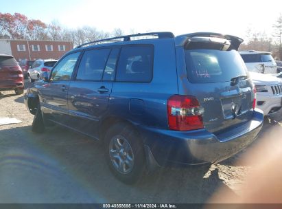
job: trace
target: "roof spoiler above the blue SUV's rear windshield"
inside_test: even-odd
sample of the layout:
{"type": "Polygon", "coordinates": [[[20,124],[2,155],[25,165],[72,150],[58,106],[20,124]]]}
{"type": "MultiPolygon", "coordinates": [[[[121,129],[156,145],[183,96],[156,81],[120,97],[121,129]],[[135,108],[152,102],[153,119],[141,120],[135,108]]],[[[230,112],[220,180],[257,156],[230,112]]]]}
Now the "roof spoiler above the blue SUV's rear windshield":
{"type": "MultiPolygon", "coordinates": [[[[217,38],[217,39],[225,39],[226,43],[229,41],[228,44],[230,44],[230,50],[238,50],[239,45],[243,43],[243,39],[237,37],[237,36],[231,36],[231,35],[224,35],[224,34],[218,34],[218,33],[212,33],[212,32],[197,32],[192,34],[185,34],[182,36],[176,37],[176,45],[183,45],[187,46],[191,42],[191,39],[193,37],[207,37],[207,38],[217,38]]],[[[212,40],[210,40],[212,42],[212,40]]],[[[216,41],[218,42],[218,41],[216,41]]],[[[225,43],[225,42],[224,42],[225,43]]]]}

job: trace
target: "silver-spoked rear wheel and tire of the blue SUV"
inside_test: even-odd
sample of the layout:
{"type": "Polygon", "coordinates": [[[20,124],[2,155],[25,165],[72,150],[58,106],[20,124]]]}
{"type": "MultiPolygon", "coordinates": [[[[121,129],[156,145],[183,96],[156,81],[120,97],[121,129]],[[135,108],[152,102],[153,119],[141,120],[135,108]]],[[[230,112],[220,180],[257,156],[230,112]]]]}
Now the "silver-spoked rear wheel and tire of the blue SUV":
{"type": "Polygon", "coordinates": [[[145,173],[143,143],[132,126],[114,124],[104,142],[105,157],[112,173],[125,184],[134,184],[145,173]]]}

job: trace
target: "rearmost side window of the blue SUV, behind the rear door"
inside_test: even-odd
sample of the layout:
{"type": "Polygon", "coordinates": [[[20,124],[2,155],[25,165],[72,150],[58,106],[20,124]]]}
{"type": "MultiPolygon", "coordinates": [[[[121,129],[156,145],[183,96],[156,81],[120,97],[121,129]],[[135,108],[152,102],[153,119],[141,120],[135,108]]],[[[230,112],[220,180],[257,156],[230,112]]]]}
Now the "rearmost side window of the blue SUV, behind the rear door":
{"type": "Polygon", "coordinates": [[[152,80],[154,47],[137,45],[121,48],[116,80],[148,83],[152,80]]]}

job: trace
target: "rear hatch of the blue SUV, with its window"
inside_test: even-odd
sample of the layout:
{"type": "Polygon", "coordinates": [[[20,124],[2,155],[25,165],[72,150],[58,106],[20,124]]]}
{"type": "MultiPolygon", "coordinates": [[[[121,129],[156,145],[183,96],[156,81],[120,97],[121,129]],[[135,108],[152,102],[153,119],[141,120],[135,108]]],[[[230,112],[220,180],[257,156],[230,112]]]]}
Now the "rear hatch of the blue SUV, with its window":
{"type": "Polygon", "coordinates": [[[212,133],[252,118],[253,84],[236,44],[193,37],[184,47],[189,94],[200,102],[204,127],[212,133]]]}

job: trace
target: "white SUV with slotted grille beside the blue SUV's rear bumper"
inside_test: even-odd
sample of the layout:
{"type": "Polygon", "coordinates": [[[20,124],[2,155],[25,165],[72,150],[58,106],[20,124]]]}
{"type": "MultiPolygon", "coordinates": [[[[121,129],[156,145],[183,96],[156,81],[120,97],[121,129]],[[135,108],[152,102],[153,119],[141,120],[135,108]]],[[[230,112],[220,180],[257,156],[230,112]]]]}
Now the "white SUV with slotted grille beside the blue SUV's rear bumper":
{"type": "Polygon", "coordinates": [[[282,104],[282,80],[271,74],[255,72],[250,72],[250,77],[257,91],[257,108],[261,109],[264,115],[279,111],[282,104]]]}

